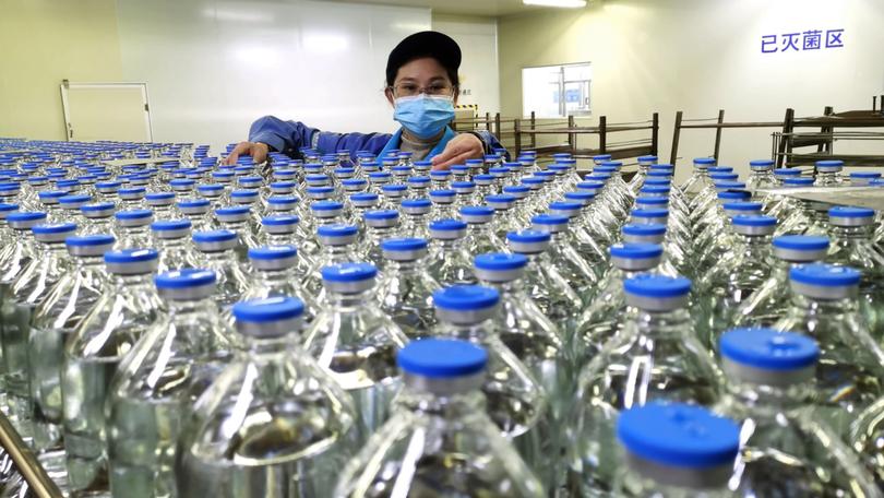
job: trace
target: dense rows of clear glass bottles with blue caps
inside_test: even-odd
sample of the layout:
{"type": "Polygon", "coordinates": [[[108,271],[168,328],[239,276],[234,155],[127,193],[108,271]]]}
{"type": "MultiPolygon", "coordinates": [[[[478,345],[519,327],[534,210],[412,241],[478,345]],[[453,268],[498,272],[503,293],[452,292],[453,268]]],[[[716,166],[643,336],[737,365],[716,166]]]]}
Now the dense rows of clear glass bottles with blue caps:
{"type": "Polygon", "coordinates": [[[184,150],[7,162],[2,407],[65,489],[880,493],[880,215],[755,190],[839,164],[184,150]]]}

